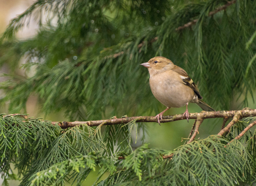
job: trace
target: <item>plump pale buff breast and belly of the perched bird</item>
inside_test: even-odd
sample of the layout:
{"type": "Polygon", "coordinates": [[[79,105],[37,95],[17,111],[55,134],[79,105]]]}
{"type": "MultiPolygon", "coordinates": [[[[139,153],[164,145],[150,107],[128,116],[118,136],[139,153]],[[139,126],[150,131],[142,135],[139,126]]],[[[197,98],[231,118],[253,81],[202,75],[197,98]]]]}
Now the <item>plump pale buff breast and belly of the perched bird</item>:
{"type": "Polygon", "coordinates": [[[185,106],[195,95],[179,75],[167,72],[150,76],[149,84],[155,98],[166,107],[185,106]]]}

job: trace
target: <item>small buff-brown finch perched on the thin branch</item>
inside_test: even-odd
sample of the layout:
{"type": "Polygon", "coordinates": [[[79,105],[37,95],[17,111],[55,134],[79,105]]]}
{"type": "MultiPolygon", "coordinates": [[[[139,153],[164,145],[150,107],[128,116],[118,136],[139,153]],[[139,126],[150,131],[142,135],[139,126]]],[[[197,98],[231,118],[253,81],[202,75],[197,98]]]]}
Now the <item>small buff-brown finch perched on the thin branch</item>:
{"type": "Polygon", "coordinates": [[[160,119],[164,112],[171,107],[182,107],[186,105],[186,111],[183,116],[189,120],[188,103],[196,103],[204,111],[215,111],[212,107],[202,101],[196,84],[188,76],[187,72],[181,67],[174,65],[166,57],[157,56],[151,58],[146,63],[140,65],[147,67],[150,78],[150,89],[155,98],[167,108],[156,115],[157,122],[160,125],[160,119]]]}

